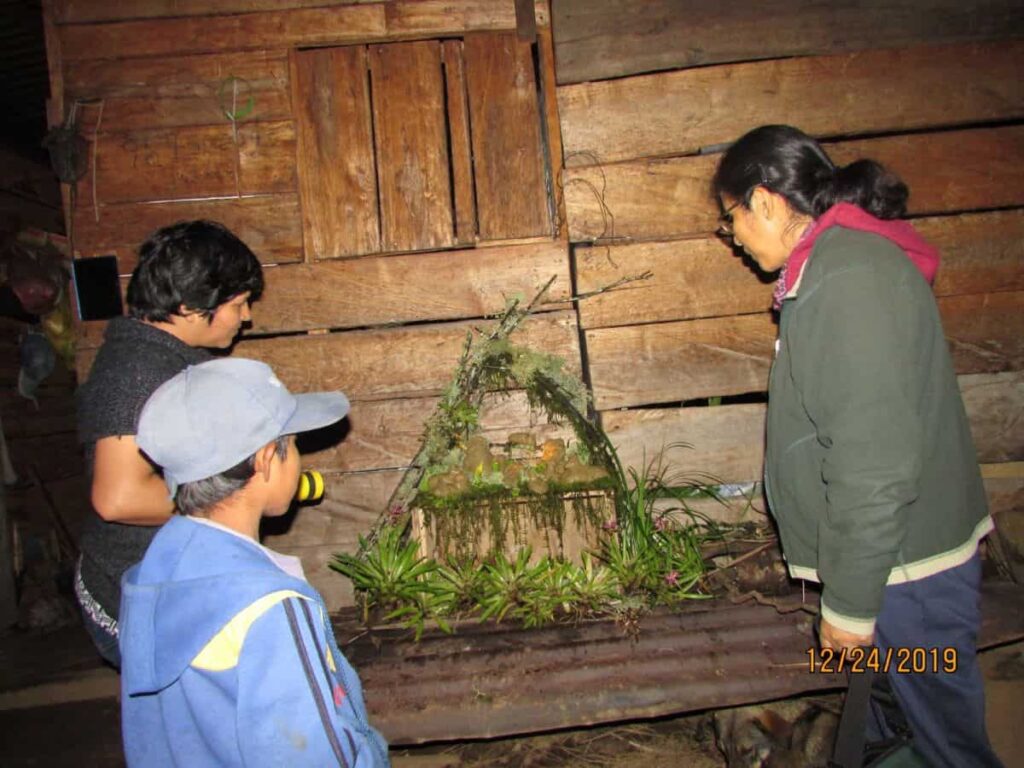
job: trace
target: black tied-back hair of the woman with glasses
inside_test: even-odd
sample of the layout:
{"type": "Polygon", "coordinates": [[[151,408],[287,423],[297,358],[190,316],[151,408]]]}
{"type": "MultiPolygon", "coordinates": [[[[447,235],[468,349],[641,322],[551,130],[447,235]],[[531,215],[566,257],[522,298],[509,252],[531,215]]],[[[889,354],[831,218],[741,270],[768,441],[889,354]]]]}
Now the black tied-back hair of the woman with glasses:
{"type": "Polygon", "coordinates": [[[781,195],[794,210],[817,218],[837,203],[852,203],[880,219],[906,213],[909,190],[873,160],[837,167],[813,138],[787,125],[764,125],[722,156],[714,194],[750,206],[756,186],[781,195]]]}

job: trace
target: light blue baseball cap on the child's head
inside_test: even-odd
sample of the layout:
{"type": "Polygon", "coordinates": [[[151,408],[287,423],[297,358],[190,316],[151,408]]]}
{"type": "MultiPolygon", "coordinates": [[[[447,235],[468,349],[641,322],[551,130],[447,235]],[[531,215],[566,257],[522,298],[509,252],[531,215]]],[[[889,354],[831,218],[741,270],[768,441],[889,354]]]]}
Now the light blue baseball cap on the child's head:
{"type": "Polygon", "coordinates": [[[292,394],[264,362],[224,357],[189,366],[146,400],[135,442],[178,485],[219,474],[271,440],[343,419],[341,392],[292,394]]]}

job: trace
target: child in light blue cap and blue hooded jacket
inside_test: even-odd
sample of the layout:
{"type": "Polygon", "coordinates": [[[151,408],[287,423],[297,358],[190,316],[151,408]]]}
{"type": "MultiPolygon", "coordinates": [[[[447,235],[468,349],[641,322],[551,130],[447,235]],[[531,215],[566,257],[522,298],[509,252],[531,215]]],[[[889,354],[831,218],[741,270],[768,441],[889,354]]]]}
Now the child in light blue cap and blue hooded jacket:
{"type": "Polygon", "coordinates": [[[294,435],[347,412],[237,357],[185,369],[142,409],[136,441],[179,514],[122,585],[129,766],[388,765],[323,599],[257,541],[295,495],[294,435]]]}

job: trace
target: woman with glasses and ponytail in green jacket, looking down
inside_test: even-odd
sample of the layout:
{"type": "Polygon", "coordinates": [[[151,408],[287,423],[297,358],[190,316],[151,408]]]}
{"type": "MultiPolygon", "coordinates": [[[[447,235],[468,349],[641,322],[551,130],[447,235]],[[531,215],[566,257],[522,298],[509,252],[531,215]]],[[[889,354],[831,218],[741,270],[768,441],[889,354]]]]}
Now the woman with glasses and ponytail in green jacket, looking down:
{"type": "Polygon", "coordinates": [[[992,521],[931,290],[938,253],[899,220],[907,187],[771,125],[732,144],[713,188],[721,233],[779,272],[765,488],[791,574],[821,584],[821,646],[878,647],[930,764],[997,766],[976,660],[992,521]]]}

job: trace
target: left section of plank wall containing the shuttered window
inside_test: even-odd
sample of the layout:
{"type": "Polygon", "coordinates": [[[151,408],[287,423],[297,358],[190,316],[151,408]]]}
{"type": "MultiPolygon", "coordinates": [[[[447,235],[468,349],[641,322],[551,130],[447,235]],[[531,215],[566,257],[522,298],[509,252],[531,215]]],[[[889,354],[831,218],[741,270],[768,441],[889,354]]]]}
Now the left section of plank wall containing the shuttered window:
{"type": "MultiPolygon", "coordinates": [[[[302,445],[327,475],[324,503],[266,530],[333,608],[352,596],[330,556],[383,510],[467,333],[554,278],[520,340],[582,372],[542,126],[555,110],[541,95],[555,77],[548,6],[536,3],[534,51],[515,5],[48,3],[54,98],[102,99],[79,108],[91,154],[69,211],[78,254],[114,253],[127,275],[159,226],[222,221],[266,276],[232,353],[352,400],[336,433],[302,445]]],[[[103,328],[79,325],[80,377],[103,328]]],[[[549,430],[521,393],[484,423],[496,437],[549,430]]]]}

